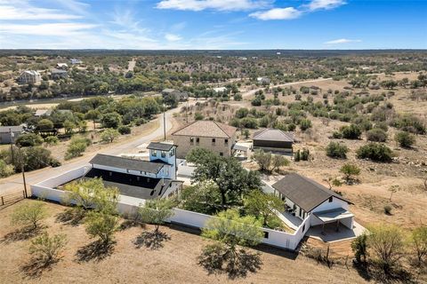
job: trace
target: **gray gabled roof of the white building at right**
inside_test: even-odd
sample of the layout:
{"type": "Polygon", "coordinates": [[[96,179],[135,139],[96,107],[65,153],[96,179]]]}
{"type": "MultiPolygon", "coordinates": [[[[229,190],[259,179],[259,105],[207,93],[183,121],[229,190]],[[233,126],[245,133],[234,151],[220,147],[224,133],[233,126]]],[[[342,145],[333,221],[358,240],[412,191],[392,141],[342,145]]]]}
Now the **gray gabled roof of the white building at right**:
{"type": "MultiPolygon", "coordinates": [[[[341,195],[334,193],[325,186],[318,184],[308,177],[302,177],[295,173],[283,177],[271,186],[306,212],[315,209],[331,196],[346,201],[341,195]]],[[[350,203],[350,201],[347,202],[350,203]]]]}

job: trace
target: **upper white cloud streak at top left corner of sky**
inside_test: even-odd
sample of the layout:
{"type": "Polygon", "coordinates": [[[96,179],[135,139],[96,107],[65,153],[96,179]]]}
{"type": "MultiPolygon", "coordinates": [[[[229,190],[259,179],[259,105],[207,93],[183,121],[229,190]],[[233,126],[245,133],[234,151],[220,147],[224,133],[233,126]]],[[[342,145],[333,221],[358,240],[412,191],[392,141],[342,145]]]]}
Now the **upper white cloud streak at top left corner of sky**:
{"type": "Polygon", "coordinates": [[[0,20],[72,20],[81,16],[62,13],[56,9],[0,5],[0,20]]]}

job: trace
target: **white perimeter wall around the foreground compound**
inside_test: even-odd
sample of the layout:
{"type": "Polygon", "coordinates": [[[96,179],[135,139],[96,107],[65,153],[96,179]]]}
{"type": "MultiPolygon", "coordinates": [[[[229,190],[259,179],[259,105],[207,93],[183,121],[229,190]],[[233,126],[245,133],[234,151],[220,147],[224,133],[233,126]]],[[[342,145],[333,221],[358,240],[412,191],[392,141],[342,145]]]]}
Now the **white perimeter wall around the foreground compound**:
{"type": "MultiPolygon", "coordinates": [[[[36,185],[31,185],[31,193],[33,196],[43,198],[49,201],[62,202],[66,197],[66,192],[58,189],[53,189],[58,185],[63,185],[71,180],[81,177],[86,168],[79,168],[76,170],[70,170],[58,177],[49,178],[36,185]]],[[[125,217],[132,216],[137,213],[138,207],[143,205],[145,200],[139,198],[133,198],[130,196],[120,195],[120,200],[117,203],[117,210],[120,214],[125,217]]],[[[71,201],[71,203],[73,203],[71,201]]],[[[169,218],[169,222],[178,223],[181,225],[189,225],[197,228],[204,228],[206,221],[212,216],[192,212],[183,209],[173,209],[173,217],[169,218]]],[[[310,228],[310,217],[306,217],[302,221],[302,225],[294,233],[285,233],[275,230],[262,228],[263,232],[268,233],[268,238],[263,238],[262,243],[269,244],[278,248],[286,248],[294,250],[307,230],[310,228]]]]}

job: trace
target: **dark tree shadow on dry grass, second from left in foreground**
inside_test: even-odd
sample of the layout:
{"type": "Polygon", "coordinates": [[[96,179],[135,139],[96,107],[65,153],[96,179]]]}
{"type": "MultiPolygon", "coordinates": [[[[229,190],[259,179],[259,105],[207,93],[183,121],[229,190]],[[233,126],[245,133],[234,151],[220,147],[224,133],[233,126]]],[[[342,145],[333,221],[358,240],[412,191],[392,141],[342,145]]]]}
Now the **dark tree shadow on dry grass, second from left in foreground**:
{"type": "Polygon", "coordinates": [[[109,243],[93,241],[85,247],[78,248],[76,253],[77,262],[101,261],[112,255],[115,245],[116,241],[110,241],[109,243]]]}

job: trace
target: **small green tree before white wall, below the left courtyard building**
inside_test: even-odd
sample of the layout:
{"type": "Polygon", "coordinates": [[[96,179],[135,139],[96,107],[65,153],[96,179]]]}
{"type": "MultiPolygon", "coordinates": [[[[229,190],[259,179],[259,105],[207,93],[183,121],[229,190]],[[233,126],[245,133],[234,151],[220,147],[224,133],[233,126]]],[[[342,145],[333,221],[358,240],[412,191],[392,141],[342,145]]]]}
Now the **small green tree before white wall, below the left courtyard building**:
{"type": "Polygon", "coordinates": [[[155,225],[155,233],[158,233],[159,225],[165,224],[165,220],[173,216],[173,201],[159,198],[145,201],[138,214],[141,222],[155,225]]]}

